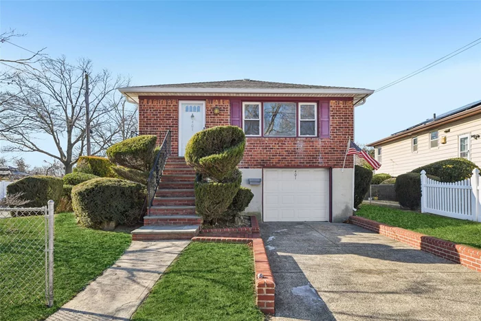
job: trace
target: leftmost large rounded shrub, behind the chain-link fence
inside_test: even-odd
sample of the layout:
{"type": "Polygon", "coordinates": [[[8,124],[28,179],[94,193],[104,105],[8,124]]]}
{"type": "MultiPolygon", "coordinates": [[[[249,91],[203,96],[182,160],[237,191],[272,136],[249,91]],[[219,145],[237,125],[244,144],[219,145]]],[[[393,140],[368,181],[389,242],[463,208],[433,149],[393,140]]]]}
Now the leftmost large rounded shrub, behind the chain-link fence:
{"type": "Polygon", "coordinates": [[[50,199],[55,202],[56,208],[60,197],[62,197],[62,192],[63,180],[52,176],[27,176],[7,186],[8,195],[23,193],[21,199],[29,201],[24,207],[30,208],[47,206],[50,199]]]}

